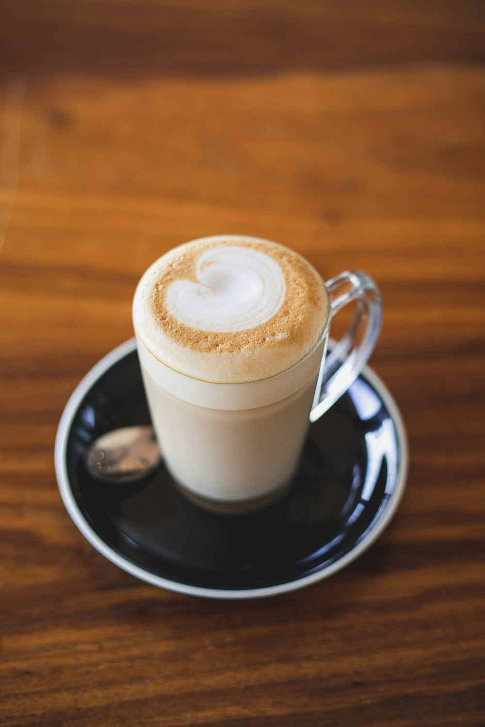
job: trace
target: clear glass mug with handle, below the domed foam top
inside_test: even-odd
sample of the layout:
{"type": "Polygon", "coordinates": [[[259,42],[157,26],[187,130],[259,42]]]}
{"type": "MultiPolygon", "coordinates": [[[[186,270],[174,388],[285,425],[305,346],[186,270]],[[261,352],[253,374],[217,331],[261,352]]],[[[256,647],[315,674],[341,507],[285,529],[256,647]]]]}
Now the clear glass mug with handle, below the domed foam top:
{"type": "Polygon", "coordinates": [[[379,289],[361,272],[342,273],[325,286],[330,314],[317,345],[291,369],[268,379],[239,384],[193,379],[162,364],[136,336],[164,462],[197,505],[231,514],[276,499],[292,481],[310,422],[364,368],[380,331],[379,289]],[[353,321],[326,356],[332,316],[353,301],[353,321]]]}

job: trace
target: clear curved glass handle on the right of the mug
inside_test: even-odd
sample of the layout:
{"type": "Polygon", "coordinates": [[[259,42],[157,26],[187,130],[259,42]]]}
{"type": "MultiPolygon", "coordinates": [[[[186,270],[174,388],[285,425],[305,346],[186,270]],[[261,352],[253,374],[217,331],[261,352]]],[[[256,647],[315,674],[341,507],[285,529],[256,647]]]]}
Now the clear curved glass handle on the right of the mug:
{"type": "Polygon", "coordinates": [[[365,273],[342,273],[327,281],[331,316],[344,305],[357,301],[356,313],[344,336],[324,355],[310,422],[316,422],[356,380],[372,353],[380,332],[382,299],[372,278],[365,273]]]}

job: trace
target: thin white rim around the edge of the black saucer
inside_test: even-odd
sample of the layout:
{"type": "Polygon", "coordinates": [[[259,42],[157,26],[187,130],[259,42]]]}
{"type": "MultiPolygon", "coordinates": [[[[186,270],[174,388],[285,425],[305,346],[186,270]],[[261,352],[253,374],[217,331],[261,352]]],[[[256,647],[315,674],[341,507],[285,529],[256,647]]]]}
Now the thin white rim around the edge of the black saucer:
{"type": "Polygon", "coordinates": [[[140,568],[140,566],[135,566],[135,564],[128,561],[127,558],[124,558],[122,555],[119,555],[119,553],[116,553],[116,550],[113,550],[111,547],[106,545],[104,540],[100,538],[99,535],[97,535],[97,533],[95,533],[95,531],[89,526],[86,519],[84,518],[84,515],[81,513],[81,510],[79,510],[76,499],[74,498],[73,491],[71,489],[71,483],[69,482],[68,478],[66,459],[68,432],[71,429],[73,418],[79,407],[79,403],[84,398],[84,395],[86,395],[89,389],[95,384],[95,382],[97,382],[97,379],[100,379],[100,377],[103,376],[105,371],[111,369],[111,366],[113,366],[113,364],[116,364],[117,361],[119,361],[121,358],[124,358],[124,356],[127,356],[129,353],[132,353],[132,351],[134,351],[135,349],[135,338],[131,338],[114,348],[106,356],[103,356],[103,358],[101,358],[101,360],[98,361],[97,364],[95,364],[95,366],[93,366],[90,371],[88,371],[86,376],[81,380],[81,382],[79,382],[79,385],[77,385],[74,389],[68,403],[65,406],[63,415],[60,418],[59,427],[57,428],[57,435],[55,439],[55,472],[57,475],[57,483],[59,485],[60,495],[63,498],[65,508],[68,511],[69,515],[71,515],[73,523],[76,525],[79,531],[81,531],[87,541],[90,542],[91,545],[95,547],[95,549],[99,553],[101,553],[101,555],[104,555],[104,557],[107,558],[108,561],[111,561],[111,563],[114,563],[115,566],[118,566],[122,570],[127,571],[127,573],[135,576],[136,578],[139,578],[142,581],[151,583],[151,585],[157,586],[159,588],[174,591],[175,593],[184,593],[185,595],[194,595],[202,598],[220,598],[225,600],[243,598],[265,598],[272,595],[289,593],[290,591],[299,590],[300,588],[304,588],[308,585],[324,580],[325,578],[332,576],[334,573],[337,573],[337,571],[341,571],[345,568],[345,566],[348,566],[349,563],[352,563],[352,561],[355,561],[360,555],[362,555],[362,553],[364,553],[364,551],[367,550],[367,548],[369,548],[372,543],[374,543],[377,538],[380,537],[382,532],[386,529],[393,516],[396,514],[396,510],[398,509],[398,505],[401,502],[401,498],[404,494],[404,489],[406,488],[406,478],[409,468],[409,449],[407,443],[406,429],[404,427],[401,412],[399,411],[396,402],[394,401],[392,395],[390,395],[388,388],[385,386],[382,380],[377,376],[377,374],[374,373],[374,371],[372,371],[372,369],[369,368],[369,366],[366,366],[364,371],[362,371],[362,374],[364,374],[366,379],[372,384],[372,386],[374,386],[374,388],[379,393],[382,401],[384,401],[385,406],[390,413],[390,416],[393,419],[394,426],[396,427],[398,449],[400,454],[398,473],[396,477],[396,486],[394,488],[393,494],[391,494],[390,496],[385,512],[381,515],[380,521],[377,522],[376,526],[366,535],[366,537],[364,537],[361,541],[357,543],[355,547],[353,547],[353,550],[350,550],[349,553],[343,555],[339,561],[331,563],[331,565],[327,566],[322,571],[312,573],[308,576],[303,576],[297,580],[289,581],[287,583],[281,583],[274,586],[265,586],[261,588],[227,590],[219,588],[204,588],[200,586],[191,586],[185,583],[172,581],[167,578],[163,578],[161,576],[150,573],[149,571],[145,571],[145,569],[140,568]]]}

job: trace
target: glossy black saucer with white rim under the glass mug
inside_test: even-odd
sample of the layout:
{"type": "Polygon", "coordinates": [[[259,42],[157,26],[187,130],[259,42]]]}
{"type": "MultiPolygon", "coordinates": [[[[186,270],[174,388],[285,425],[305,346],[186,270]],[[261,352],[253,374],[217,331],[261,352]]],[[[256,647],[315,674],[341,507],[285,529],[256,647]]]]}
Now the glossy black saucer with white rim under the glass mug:
{"type": "Polygon", "coordinates": [[[105,356],[71,396],[56,472],[76,526],[106,558],[169,590],[252,598],[308,585],[374,542],[396,512],[407,472],[401,416],[369,369],[310,427],[294,483],[260,513],[199,510],[162,465],[131,486],[88,475],[84,451],[111,429],[149,424],[134,340],[105,356]]]}

